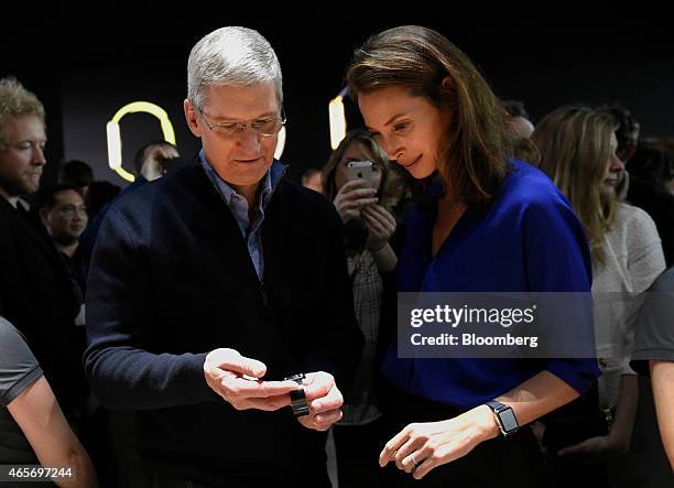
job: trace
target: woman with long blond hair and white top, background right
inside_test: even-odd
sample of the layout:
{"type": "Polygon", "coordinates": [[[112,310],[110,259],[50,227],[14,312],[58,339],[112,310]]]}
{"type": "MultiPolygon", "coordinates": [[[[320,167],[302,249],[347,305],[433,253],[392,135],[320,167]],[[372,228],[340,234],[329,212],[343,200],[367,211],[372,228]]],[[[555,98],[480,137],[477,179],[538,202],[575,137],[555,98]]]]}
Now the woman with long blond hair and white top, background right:
{"type": "Polygon", "coordinates": [[[616,153],[615,131],[605,111],[566,106],[546,115],[532,135],[541,169],[568,197],[589,239],[595,344],[602,370],[597,394],[588,395],[570,417],[556,419],[544,436],[557,486],[617,486],[619,465],[607,460],[624,455],[632,438],[638,399],[637,376],[629,367],[633,323],[641,294],[665,269],[651,217],[617,200],[624,165],[616,153]],[[573,438],[573,445],[561,437],[573,438]]]}

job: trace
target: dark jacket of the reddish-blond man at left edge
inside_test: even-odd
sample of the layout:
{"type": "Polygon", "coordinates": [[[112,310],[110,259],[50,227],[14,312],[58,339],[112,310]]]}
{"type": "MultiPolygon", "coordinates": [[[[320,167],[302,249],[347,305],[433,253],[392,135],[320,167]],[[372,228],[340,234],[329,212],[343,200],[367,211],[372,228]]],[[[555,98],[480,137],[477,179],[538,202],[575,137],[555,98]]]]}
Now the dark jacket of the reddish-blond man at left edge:
{"type": "Polygon", "coordinates": [[[25,336],[62,409],[81,410],[87,384],[81,367],[80,303],[65,261],[33,215],[0,197],[0,303],[25,336]]]}

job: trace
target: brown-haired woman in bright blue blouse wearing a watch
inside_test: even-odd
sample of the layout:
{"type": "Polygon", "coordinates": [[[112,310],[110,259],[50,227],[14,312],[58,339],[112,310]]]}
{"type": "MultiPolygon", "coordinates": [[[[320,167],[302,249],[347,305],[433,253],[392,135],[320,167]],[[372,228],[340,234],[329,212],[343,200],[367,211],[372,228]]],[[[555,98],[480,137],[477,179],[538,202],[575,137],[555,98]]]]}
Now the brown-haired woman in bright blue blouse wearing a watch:
{"type": "MultiPolygon", "coordinates": [[[[506,111],[461,51],[426,28],[391,29],[356,51],[347,82],[369,131],[421,186],[400,292],[589,291],[577,217],[512,159],[506,111]]],[[[393,466],[387,486],[541,486],[525,425],[598,375],[594,359],[405,359],[395,341],[382,369],[396,392],[379,458],[393,466]]]]}

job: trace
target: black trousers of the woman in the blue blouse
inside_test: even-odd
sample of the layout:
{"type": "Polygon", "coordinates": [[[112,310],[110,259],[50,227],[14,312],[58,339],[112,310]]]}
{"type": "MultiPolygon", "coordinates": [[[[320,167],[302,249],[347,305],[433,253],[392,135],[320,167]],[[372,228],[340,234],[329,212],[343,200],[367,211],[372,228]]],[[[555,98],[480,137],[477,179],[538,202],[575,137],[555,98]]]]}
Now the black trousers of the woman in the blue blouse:
{"type": "MultiPolygon", "coordinates": [[[[388,400],[388,434],[382,444],[413,422],[437,422],[461,411],[420,397],[396,391],[388,400]]],[[[452,463],[437,466],[422,480],[389,463],[383,469],[382,487],[548,487],[550,473],[531,429],[521,427],[509,438],[497,437],[479,444],[472,452],[452,463]]],[[[348,488],[348,487],[347,487],[348,488]]]]}

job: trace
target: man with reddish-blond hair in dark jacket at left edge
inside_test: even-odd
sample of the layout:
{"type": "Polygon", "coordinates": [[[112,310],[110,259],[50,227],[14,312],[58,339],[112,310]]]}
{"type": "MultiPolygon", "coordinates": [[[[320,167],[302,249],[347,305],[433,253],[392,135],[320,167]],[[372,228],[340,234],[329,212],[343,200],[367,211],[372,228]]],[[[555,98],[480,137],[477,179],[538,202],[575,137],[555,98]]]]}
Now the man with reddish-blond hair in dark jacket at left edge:
{"type": "Polygon", "coordinates": [[[0,302],[21,330],[70,420],[81,411],[84,329],[65,261],[21,199],[37,191],[45,164],[44,108],[13,78],[0,80],[0,302]]]}

